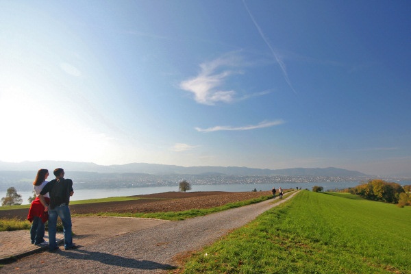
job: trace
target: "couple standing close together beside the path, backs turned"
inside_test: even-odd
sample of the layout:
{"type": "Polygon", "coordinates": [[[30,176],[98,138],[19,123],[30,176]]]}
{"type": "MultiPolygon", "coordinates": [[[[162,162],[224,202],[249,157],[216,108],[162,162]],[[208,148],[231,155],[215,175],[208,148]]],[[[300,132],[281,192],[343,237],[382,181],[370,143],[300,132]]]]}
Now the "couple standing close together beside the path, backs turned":
{"type": "Polygon", "coordinates": [[[57,232],[57,219],[60,217],[63,224],[64,249],[77,249],[73,244],[71,229],[71,214],[69,209],[70,197],[73,196],[73,181],[64,179],[64,169],[53,171],[55,179],[47,181],[49,171],[39,169],[33,182],[36,199],[32,201],[27,219],[32,223],[30,237],[32,244],[45,247],[49,245],[49,251],[58,250],[55,240],[57,232]],[[49,242],[44,239],[45,223],[49,222],[49,242]]]}

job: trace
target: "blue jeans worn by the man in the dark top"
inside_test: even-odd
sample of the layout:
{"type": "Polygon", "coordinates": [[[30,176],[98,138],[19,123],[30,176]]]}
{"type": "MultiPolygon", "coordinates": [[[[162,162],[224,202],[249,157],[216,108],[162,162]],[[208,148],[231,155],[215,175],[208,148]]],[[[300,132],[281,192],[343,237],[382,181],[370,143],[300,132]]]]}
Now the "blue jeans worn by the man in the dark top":
{"type": "Polygon", "coordinates": [[[53,251],[57,248],[55,242],[55,232],[57,230],[57,217],[62,219],[63,234],[64,234],[64,248],[73,246],[73,236],[71,235],[71,215],[69,206],[65,204],[56,206],[49,210],[49,250],[53,251]]]}

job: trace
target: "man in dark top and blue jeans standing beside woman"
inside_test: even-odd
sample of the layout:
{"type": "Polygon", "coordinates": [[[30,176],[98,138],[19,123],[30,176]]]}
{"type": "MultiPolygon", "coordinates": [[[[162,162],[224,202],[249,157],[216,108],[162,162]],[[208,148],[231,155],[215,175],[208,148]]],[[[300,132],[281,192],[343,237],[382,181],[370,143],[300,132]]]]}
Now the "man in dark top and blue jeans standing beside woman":
{"type": "Polygon", "coordinates": [[[63,223],[64,249],[77,249],[78,246],[73,244],[71,232],[71,214],[69,209],[70,197],[73,196],[73,181],[64,179],[64,169],[58,168],[53,171],[55,179],[51,180],[40,192],[40,199],[45,210],[49,212],[49,251],[58,250],[55,242],[55,233],[57,230],[57,217],[59,216],[63,223]],[[44,195],[49,193],[50,203],[46,203],[44,195]]]}

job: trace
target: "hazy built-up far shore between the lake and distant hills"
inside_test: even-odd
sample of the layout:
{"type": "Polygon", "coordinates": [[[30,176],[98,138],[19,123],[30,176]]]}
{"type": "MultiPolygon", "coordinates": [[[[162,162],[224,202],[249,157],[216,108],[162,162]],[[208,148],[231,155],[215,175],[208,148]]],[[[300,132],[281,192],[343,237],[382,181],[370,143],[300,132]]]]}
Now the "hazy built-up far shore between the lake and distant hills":
{"type": "MultiPolygon", "coordinates": [[[[333,182],[358,182],[362,184],[375,177],[340,177],[340,176],[304,176],[304,175],[224,175],[224,174],[170,174],[153,175],[147,173],[88,173],[71,172],[70,179],[77,189],[97,188],[132,188],[153,186],[178,186],[179,182],[187,181],[191,185],[213,185],[213,184],[281,184],[281,183],[333,183],[333,182]]],[[[410,179],[382,178],[387,182],[409,181],[410,179]]],[[[32,178],[22,179],[13,176],[0,176],[0,191],[14,186],[19,191],[32,190],[32,178]]]]}

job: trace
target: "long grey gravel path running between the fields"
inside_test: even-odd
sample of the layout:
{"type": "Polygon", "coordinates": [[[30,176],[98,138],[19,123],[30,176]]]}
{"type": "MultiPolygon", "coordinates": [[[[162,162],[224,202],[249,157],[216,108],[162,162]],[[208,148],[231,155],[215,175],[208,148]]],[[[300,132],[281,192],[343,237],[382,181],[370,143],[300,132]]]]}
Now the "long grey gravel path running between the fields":
{"type": "MultiPolygon", "coordinates": [[[[28,256],[0,269],[1,273],[168,273],[177,268],[177,254],[201,249],[232,229],[256,219],[282,201],[263,201],[185,221],[167,222],[72,251],[28,256]],[[168,271],[167,271],[168,270],[168,271]]],[[[110,229],[110,227],[101,227],[110,229]]],[[[60,247],[61,248],[61,247],[60,247]]]]}

